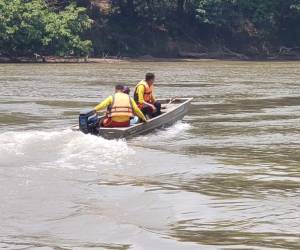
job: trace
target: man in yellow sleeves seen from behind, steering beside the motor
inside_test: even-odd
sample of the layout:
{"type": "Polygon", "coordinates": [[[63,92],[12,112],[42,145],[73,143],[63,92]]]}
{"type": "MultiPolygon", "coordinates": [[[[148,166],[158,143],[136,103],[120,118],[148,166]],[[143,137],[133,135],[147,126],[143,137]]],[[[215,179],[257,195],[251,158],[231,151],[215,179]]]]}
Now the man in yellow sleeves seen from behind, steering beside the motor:
{"type": "Polygon", "coordinates": [[[130,125],[130,118],[134,114],[143,122],[146,122],[146,118],[138,108],[136,102],[128,94],[123,93],[123,88],[122,85],[117,85],[115,94],[109,96],[94,108],[96,112],[107,108],[106,117],[101,123],[103,127],[128,127],[130,125]]]}

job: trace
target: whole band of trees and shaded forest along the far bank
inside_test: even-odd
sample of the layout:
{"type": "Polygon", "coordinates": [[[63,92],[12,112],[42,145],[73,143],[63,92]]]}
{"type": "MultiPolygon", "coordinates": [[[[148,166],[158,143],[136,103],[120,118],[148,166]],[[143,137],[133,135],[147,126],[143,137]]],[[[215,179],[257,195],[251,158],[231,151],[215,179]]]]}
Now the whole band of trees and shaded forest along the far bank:
{"type": "Polygon", "coordinates": [[[300,0],[0,0],[0,55],[300,55],[300,0]]]}

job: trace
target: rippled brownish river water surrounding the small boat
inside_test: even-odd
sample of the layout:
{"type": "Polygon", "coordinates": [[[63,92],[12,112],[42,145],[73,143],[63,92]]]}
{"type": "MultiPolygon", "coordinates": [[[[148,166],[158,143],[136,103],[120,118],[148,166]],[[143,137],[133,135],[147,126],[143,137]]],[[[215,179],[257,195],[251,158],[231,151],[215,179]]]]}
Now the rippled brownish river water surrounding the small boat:
{"type": "Polygon", "coordinates": [[[0,248],[300,249],[300,63],[0,65],[0,248]],[[183,121],[70,127],[147,71],[183,121]]]}

